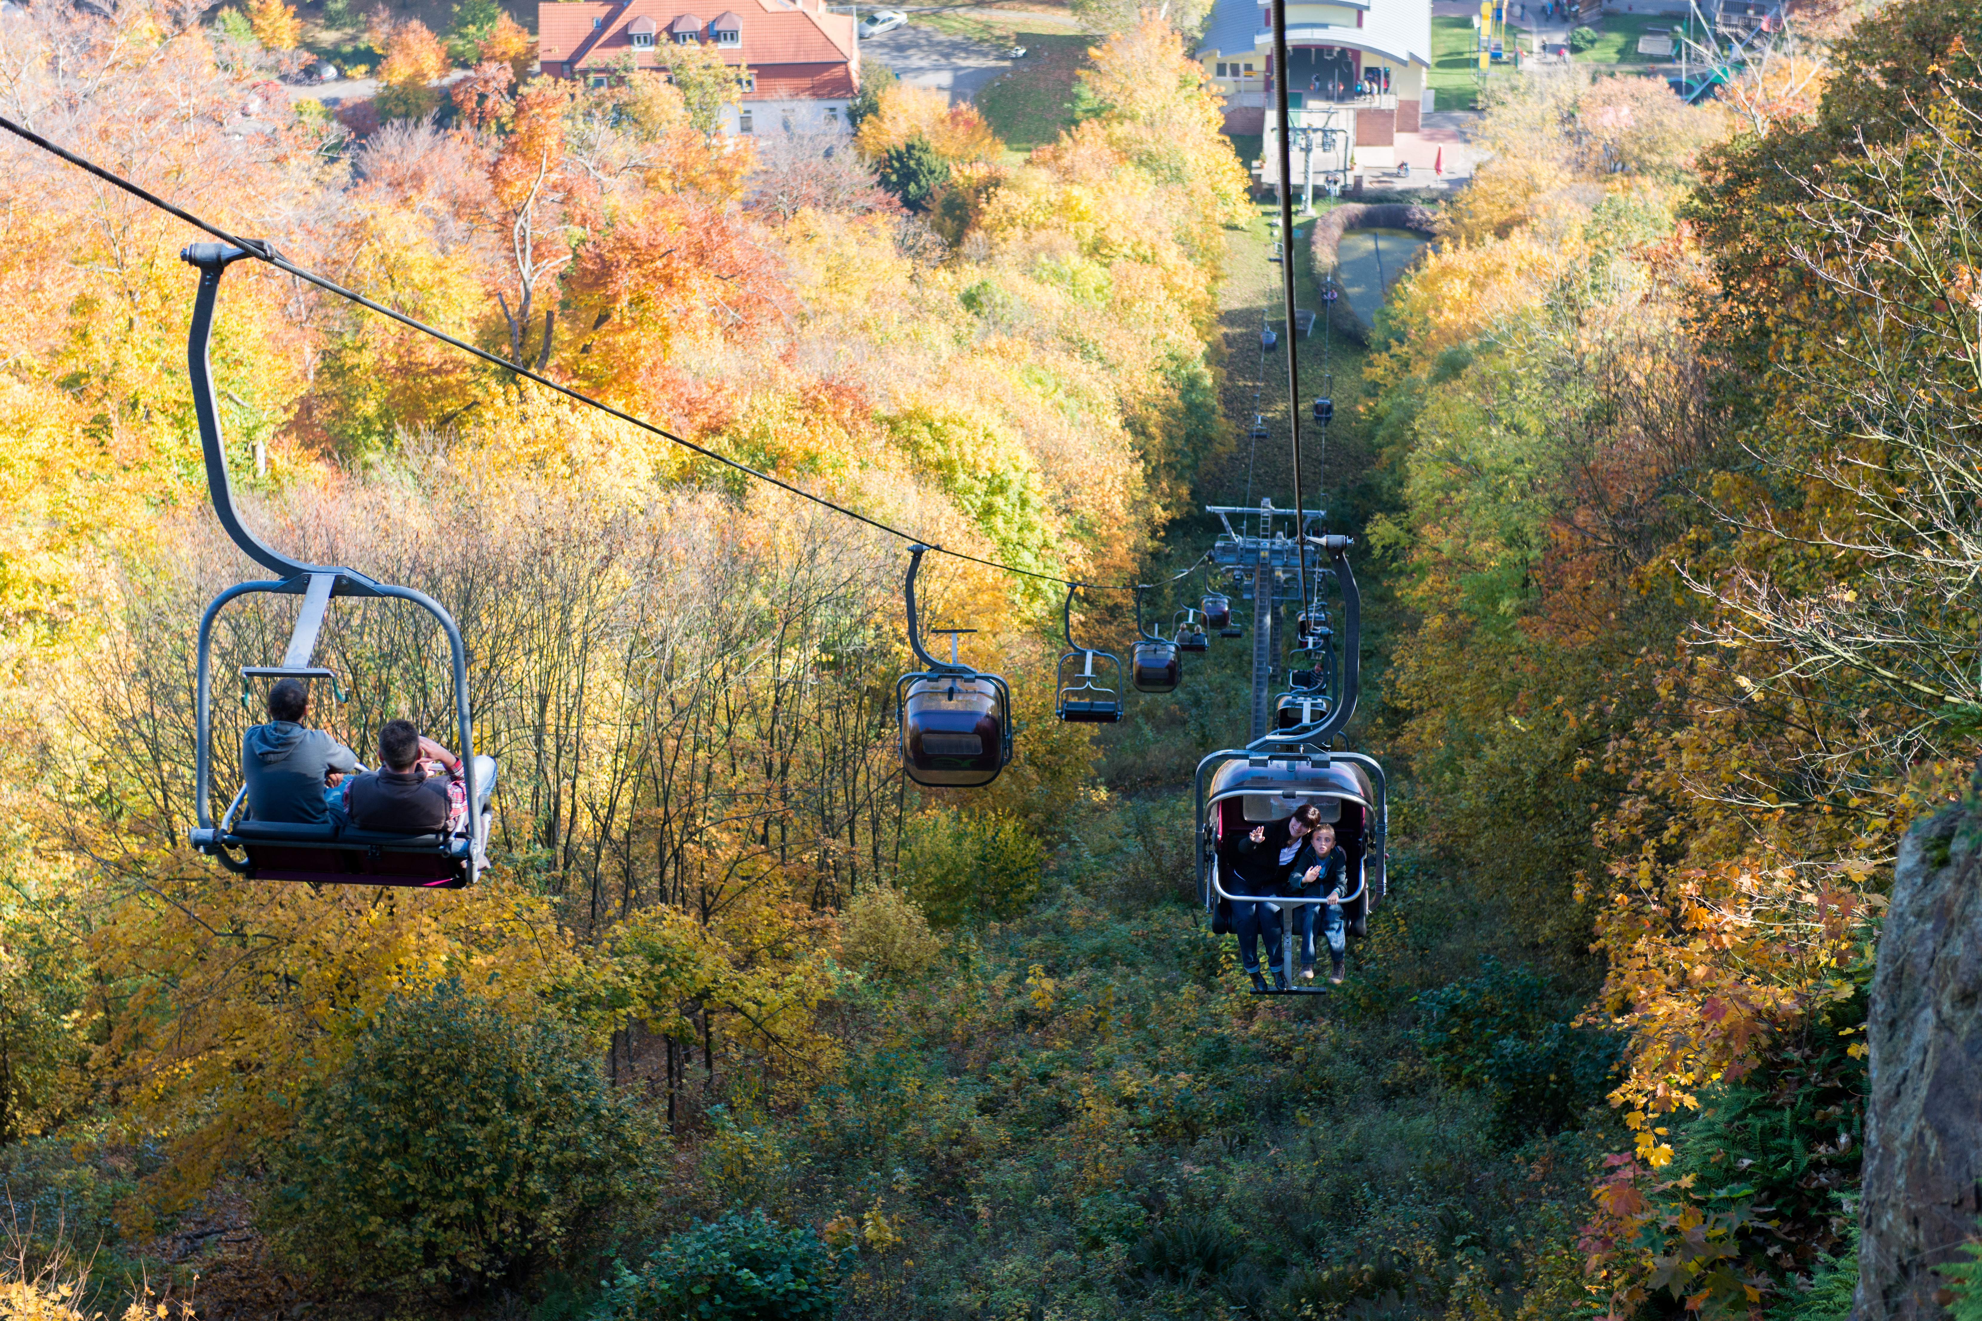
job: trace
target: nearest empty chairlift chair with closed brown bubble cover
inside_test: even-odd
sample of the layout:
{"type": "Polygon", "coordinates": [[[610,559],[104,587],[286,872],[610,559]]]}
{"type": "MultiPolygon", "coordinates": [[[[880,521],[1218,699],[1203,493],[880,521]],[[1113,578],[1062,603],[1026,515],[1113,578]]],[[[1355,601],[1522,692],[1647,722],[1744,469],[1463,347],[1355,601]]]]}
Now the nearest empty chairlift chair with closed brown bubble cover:
{"type": "Polygon", "coordinates": [[[922,646],[916,618],[916,572],[930,547],[908,549],[908,646],[928,669],[904,673],[894,683],[900,713],[902,770],[916,784],[983,788],[1011,762],[1011,685],[957,660],[957,638],[973,628],[934,628],[949,634],[949,661],[922,646]]]}

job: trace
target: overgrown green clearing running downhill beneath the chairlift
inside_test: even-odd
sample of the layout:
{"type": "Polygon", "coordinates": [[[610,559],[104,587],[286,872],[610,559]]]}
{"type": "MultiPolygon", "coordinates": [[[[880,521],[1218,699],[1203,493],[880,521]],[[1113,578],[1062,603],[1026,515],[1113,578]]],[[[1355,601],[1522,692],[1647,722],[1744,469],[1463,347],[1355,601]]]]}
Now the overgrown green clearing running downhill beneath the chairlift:
{"type": "MultiPolygon", "coordinates": [[[[1284,358],[1257,349],[1280,267],[1265,216],[1231,240],[1227,412],[1259,408],[1272,440],[1217,456],[1199,495],[1237,503],[1251,469],[1253,499],[1286,503],[1284,358]]],[[[1304,259],[1296,273],[1312,305],[1304,259]]],[[[1298,347],[1304,398],[1322,347],[1298,347]]],[[[1356,408],[1362,362],[1330,353],[1326,475],[1346,531],[1385,503],[1356,408]]],[[[1187,564],[1209,527],[1179,519],[1152,572],[1187,564]]],[[[1383,755],[1397,614],[1379,564],[1362,568],[1377,673],[1356,745],[1383,755]]],[[[1393,899],[1344,992],[1263,1002],[1191,903],[1189,768],[1245,719],[1249,644],[1215,648],[1177,695],[1132,699],[1102,735],[1110,792],[1070,806],[1041,905],[955,933],[924,976],[868,982],[842,1006],[842,1081],[803,1115],[739,1107],[743,1127],[719,1143],[731,1155],[704,1161],[719,1170],[708,1200],[672,1216],[751,1202],[815,1222],[886,1216],[900,1242],[882,1236],[842,1313],[862,1319],[1512,1315],[1522,1297],[1530,1315],[1568,1315],[1572,1226],[1617,1135],[1597,1117],[1510,1145],[1413,1038],[1413,996],[1479,968],[1492,907],[1397,838],[1393,899]]]]}

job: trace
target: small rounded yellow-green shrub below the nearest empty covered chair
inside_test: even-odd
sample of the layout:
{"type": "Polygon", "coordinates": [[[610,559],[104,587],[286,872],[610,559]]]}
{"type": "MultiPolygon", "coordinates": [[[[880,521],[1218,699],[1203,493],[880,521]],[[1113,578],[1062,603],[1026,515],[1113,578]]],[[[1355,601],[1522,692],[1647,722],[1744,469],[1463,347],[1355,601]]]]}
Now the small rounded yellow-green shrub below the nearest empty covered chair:
{"type": "Polygon", "coordinates": [[[1046,850],[1003,812],[936,808],[902,834],[902,879],[937,927],[1017,917],[1039,895],[1046,850]]]}

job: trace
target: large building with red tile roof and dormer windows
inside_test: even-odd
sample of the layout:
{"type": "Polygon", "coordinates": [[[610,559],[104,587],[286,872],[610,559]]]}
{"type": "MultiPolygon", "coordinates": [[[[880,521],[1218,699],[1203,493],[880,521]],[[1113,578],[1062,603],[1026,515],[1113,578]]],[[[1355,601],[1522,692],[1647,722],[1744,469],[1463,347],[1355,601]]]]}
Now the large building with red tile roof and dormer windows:
{"type": "Polygon", "coordinates": [[[741,0],[704,18],[714,6],[690,2],[539,0],[539,67],[603,87],[628,61],[666,69],[670,44],[700,42],[743,83],[743,101],[723,111],[723,133],[846,129],[846,103],[860,87],[850,14],[832,14],[826,0],[741,0]]]}

